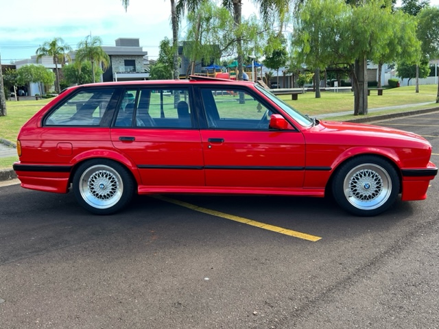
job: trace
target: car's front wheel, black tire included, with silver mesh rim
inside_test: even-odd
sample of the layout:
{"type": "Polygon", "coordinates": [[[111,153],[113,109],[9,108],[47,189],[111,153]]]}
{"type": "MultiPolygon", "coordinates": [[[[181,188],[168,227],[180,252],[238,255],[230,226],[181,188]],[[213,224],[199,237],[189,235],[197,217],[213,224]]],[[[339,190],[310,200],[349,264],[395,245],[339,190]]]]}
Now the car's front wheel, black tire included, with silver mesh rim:
{"type": "Polygon", "coordinates": [[[333,178],[332,191],[344,210],[357,216],[375,216],[394,204],[400,185],[390,162],[367,155],[342,164],[333,178]]]}

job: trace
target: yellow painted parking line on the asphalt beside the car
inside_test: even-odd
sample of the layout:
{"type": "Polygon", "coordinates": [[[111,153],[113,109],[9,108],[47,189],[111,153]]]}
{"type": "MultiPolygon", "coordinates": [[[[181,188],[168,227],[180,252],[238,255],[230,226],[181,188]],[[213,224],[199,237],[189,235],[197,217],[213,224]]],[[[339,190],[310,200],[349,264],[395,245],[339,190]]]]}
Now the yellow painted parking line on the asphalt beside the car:
{"type": "Polygon", "coordinates": [[[255,226],[257,228],[263,228],[264,230],[269,230],[269,231],[276,232],[276,233],[294,236],[294,237],[299,238],[299,239],[304,239],[304,240],[313,241],[313,242],[316,242],[316,241],[319,241],[320,239],[322,239],[320,236],[314,236],[314,235],[305,234],[305,233],[301,233],[301,232],[297,232],[297,231],[293,231],[293,230],[288,230],[287,228],[280,228],[278,226],[261,223],[260,221],[252,221],[252,219],[247,219],[244,217],[228,215],[224,212],[211,210],[211,209],[207,209],[207,208],[202,208],[199,206],[195,206],[194,204],[188,204],[187,202],[178,201],[175,199],[171,199],[169,197],[163,197],[162,195],[154,195],[154,197],[156,199],[160,199],[160,200],[165,201],[165,202],[170,202],[171,204],[177,204],[178,206],[189,208],[191,210],[195,210],[198,212],[203,212],[204,214],[208,214],[208,215],[212,215],[212,216],[216,216],[216,217],[222,217],[225,219],[230,219],[230,221],[237,221],[239,223],[244,223],[244,224],[247,224],[250,226],[255,226]]]}

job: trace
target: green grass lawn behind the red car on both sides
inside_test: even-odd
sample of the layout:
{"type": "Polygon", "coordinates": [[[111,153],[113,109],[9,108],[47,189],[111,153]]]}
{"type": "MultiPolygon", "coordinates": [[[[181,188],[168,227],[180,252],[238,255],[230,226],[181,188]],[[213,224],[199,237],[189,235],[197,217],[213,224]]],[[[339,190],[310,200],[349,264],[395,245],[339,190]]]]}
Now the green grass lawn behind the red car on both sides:
{"type": "MultiPolygon", "coordinates": [[[[434,102],[436,101],[437,88],[436,85],[419,86],[419,93],[415,93],[414,86],[385,89],[382,96],[377,96],[377,92],[372,91],[368,97],[368,108],[434,102]]],[[[317,99],[315,93],[307,92],[304,95],[299,95],[297,101],[292,101],[289,95],[280,96],[280,98],[300,112],[311,116],[324,115],[327,118],[331,118],[331,113],[334,112],[351,111],[353,113],[353,93],[322,92],[322,97],[317,99]]],[[[7,101],[6,107],[8,115],[0,117],[0,138],[15,142],[20,127],[49,101],[50,99],[40,99],[38,101],[7,101]]],[[[367,117],[431,107],[436,107],[436,104],[370,112],[367,117]]],[[[333,119],[349,120],[358,117],[359,116],[354,117],[352,114],[344,117],[333,117],[333,119]]],[[[10,167],[10,164],[15,160],[16,158],[0,159],[0,168],[10,167]]]]}

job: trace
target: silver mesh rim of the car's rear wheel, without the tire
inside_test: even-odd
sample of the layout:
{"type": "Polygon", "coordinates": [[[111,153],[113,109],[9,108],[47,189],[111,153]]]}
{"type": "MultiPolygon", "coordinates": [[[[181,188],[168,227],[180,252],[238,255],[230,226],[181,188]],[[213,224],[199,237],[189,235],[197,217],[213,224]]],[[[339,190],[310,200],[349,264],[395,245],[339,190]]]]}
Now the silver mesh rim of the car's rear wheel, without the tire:
{"type": "Polygon", "coordinates": [[[88,167],[82,173],[78,187],[82,199],[97,209],[115,206],[123,195],[121,175],[104,164],[88,167]]]}

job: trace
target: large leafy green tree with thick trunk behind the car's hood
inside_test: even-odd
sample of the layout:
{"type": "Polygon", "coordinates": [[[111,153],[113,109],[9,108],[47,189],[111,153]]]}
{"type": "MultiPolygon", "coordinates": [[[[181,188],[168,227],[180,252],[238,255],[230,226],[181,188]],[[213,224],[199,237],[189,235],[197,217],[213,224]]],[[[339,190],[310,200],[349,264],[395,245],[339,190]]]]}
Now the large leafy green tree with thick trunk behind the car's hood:
{"type": "MultiPolygon", "coordinates": [[[[366,60],[381,53],[379,49],[387,47],[394,36],[390,7],[382,1],[351,6],[342,0],[309,0],[296,25],[294,51],[298,60],[313,69],[347,66],[353,82],[354,115],[367,114],[366,60]]],[[[416,49],[410,42],[402,46],[407,56],[416,49]]]]}

